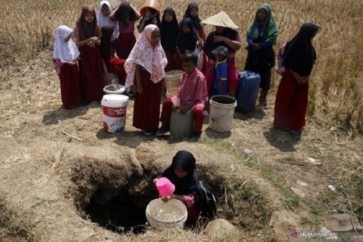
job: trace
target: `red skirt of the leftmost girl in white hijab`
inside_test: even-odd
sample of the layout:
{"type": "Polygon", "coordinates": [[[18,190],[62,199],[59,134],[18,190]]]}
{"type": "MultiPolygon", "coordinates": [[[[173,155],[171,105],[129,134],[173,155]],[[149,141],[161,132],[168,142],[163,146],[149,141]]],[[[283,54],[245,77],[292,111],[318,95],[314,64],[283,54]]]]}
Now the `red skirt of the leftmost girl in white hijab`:
{"type": "Polygon", "coordinates": [[[81,106],[81,81],[77,64],[64,63],[60,67],[59,80],[61,83],[61,98],[64,108],[81,106]]]}

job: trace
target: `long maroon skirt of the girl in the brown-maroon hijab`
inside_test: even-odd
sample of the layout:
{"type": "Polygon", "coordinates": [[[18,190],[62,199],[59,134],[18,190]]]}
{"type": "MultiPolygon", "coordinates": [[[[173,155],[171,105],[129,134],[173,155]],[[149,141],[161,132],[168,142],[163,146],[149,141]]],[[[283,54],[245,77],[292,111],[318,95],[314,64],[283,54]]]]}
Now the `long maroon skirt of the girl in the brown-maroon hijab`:
{"type": "Polygon", "coordinates": [[[81,60],[78,60],[81,77],[82,100],[86,102],[101,101],[103,93],[102,59],[99,46],[79,47],[81,60]]]}

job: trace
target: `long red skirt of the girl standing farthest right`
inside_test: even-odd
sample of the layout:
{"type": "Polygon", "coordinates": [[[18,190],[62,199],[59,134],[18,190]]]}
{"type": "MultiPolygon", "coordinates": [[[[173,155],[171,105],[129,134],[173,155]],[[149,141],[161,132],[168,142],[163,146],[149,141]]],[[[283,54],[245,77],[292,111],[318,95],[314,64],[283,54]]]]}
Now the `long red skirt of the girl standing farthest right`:
{"type": "Polygon", "coordinates": [[[277,89],[273,125],[287,130],[300,130],[305,126],[309,83],[297,83],[287,69],[277,89]]]}

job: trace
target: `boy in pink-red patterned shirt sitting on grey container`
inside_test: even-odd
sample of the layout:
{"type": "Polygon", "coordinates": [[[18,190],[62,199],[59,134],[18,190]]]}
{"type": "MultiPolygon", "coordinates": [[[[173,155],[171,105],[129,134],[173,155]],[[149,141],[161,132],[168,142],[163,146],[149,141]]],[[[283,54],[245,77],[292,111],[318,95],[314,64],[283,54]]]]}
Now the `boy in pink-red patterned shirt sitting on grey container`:
{"type": "Polygon", "coordinates": [[[197,69],[198,56],[195,53],[184,53],[183,55],[183,77],[178,88],[178,96],[165,100],[160,115],[162,126],[156,136],[161,136],[170,130],[171,111],[179,110],[185,114],[189,109],[193,112],[195,121],[194,133],[191,140],[198,141],[204,122],[204,102],[207,98],[207,84],[205,77],[197,69]]]}

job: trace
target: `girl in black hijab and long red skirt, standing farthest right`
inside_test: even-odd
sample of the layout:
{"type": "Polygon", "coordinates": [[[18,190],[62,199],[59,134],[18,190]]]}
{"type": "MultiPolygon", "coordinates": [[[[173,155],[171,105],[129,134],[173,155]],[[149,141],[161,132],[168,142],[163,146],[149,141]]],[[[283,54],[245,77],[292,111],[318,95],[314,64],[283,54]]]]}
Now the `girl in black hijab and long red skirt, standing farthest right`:
{"type": "Polygon", "coordinates": [[[284,60],[286,72],[278,86],[273,125],[295,134],[305,126],[309,77],[316,61],[313,44],[319,26],[305,23],[299,33],[286,43],[284,60]]]}

